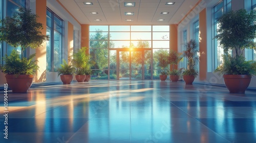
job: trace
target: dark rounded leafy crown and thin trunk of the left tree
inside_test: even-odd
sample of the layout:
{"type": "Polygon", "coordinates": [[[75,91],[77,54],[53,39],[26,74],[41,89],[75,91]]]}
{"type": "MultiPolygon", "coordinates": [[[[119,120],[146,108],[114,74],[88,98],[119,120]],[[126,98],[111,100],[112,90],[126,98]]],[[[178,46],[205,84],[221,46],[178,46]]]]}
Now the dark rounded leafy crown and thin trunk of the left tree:
{"type": "Polygon", "coordinates": [[[23,58],[27,47],[36,49],[49,40],[49,36],[41,33],[43,27],[37,22],[36,14],[25,8],[19,8],[18,11],[13,16],[1,20],[0,41],[5,41],[13,47],[20,46],[23,58]]]}

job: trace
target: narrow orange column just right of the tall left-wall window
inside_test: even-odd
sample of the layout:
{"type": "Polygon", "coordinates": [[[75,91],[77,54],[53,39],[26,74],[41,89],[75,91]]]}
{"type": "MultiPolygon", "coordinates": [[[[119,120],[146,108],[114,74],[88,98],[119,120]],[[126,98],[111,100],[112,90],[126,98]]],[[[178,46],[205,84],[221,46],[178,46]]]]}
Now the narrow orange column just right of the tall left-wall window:
{"type": "Polygon", "coordinates": [[[74,26],[68,22],[68,57],[73,54],[74,48],[74,26]]]}

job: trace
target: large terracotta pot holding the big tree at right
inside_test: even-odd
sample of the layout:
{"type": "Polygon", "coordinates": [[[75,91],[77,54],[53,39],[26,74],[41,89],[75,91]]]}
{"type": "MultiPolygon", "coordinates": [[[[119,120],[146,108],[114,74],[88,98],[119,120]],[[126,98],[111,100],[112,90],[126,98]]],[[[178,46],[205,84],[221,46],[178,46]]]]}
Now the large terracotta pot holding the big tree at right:
{"type": "Polygon", "coordinates": [[[251,82],[248,75],[223,75],[223,78],[230,93],[244,93],[251,82]]]}

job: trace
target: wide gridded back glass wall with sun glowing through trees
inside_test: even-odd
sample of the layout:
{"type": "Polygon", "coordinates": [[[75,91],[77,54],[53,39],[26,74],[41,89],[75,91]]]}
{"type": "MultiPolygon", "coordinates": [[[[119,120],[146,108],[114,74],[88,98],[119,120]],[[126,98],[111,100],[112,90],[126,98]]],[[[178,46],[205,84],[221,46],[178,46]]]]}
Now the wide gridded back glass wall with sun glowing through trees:
{"type": "Polygon", "coordinates": [[[159,79],[159,50],[169,52],[169,26],[90,26],[91,78],[159,79]]]}

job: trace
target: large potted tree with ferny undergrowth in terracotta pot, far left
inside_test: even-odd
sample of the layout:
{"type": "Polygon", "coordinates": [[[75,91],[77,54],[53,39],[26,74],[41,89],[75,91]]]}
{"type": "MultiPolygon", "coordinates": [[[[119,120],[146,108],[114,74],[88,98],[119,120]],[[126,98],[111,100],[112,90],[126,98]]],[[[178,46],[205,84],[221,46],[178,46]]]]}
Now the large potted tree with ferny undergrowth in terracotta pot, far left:
{"type": "Polygon", "coordinates": [[[49,36],[41,33],[43,27],[41,23],[37,22],[36,14],[24,8],[19,8],[18,11],[13,16],[7,16],[0,21],[2,23],[0,41],[21,48],[20,53],[12,52],[10,56],[6,55],[4,62],[8,64],[1,65],[1,69],[6,74],[7,84],[13,92],[27,92],[38,66],[36,61],[32,60],[35,55],[31,55],[29,58],[24,57],[25,50],[27,47],[32,49],[40,47],[43,42],[49,40],[49,36]],[[17,59],[19,54],[21,55],[20,59],[17,59]],[[20,68],[22,66],[23,68],[20,68]],[[16,89],[15,87],[20,88],[16,89]]]}

